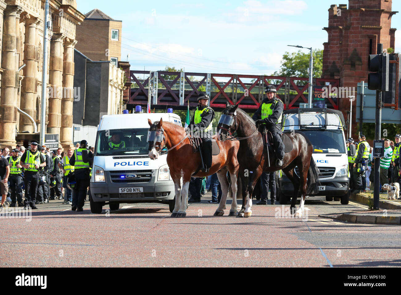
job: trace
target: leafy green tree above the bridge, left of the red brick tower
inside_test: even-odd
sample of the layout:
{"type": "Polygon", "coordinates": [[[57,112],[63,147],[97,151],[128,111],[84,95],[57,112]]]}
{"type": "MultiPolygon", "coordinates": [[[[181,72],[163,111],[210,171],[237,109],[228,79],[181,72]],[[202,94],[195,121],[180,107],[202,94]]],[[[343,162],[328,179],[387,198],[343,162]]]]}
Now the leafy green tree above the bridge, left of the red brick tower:
{"type": "MultiPolygon", "coordinates": [[[[283,61],[279,71],[274,72],[274,76],[285,77],[309,77],[310,52],[299,50],[298,52],[289,53],[286,51],[283,55],[283,61]]],[[[313,51],[313,75],[314,78],[322,76],[323,67],[323,50],[315,49],[313,51]]]]}

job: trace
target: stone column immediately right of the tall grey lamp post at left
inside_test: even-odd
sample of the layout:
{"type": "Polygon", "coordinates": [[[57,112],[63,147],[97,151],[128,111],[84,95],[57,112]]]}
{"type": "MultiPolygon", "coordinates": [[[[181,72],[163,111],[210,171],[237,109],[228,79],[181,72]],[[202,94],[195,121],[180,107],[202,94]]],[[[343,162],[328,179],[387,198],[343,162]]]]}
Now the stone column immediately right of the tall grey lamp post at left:
{"type": "MultiPolygon", "coordinates": [[[[47,133],[60,134],[61,98],[63,97],[63,39],[64,35],[54,34],[50,42],[49,84],[49,124],[47,133]]],[[[42,82],[43,83],[43,82],[42,82]]],[[[60,139],[59,139],[60,140],[60,139]]]]}

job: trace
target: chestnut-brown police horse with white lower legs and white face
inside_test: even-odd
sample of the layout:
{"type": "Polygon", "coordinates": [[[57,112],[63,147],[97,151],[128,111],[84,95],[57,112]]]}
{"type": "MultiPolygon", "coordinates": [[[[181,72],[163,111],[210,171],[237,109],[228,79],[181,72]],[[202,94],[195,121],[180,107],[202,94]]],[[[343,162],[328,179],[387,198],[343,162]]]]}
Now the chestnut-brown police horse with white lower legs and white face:
{"type": "MultiPolygon", "coordinates": [[[[231,209],[229,216],[237,216],[237,177],[239,164],[237,161],[237,152],[239,149],[239,142],[227,141],[221,142],[216,141],[220,153],[212,156],[212,166],[209,172],[201,172],[199,167],[201,166],[201,155],[199,153],[193,153],[193,142],[190,140],[190,133],[170,122],[160,121],[152,123],[148,119],[149,130],[148,130],[148,142],[149,142],[149,157],[154,160],[158,158],[163,147],[166,146],[168,149],[167,164],[170,168],[170,175],[174,181],[176,203],[171,217],[185,217],[186,216],[186,204],[188,198],[188,187],[191,176],[204,177],[209,176],[217,172],[217,177],[221,183],[221,201],[217,208],[214,216],[223,216],[224,208],[227,199],[227,193],[229,189],[229,183],[227,180],[227,171],[231,177],[231,191],[233,193],[233,202],[231,203],[231,209]],[[182,178],[182,187],[181,187],[182,178]]],[[[213,136],[216,139],[216,136],[213,136]]]]}

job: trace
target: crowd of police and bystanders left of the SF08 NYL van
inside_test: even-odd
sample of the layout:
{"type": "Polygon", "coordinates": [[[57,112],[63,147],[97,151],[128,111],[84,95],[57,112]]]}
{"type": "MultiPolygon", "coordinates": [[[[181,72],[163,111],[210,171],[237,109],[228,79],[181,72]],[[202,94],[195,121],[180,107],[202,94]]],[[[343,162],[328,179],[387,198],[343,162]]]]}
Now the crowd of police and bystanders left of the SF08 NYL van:
{"type": "Polygon", "coordinates": [[[88,148],[86,140],[77,143],[75,149],[67,151],[63,151],[61,147],[51,151],[49,147],[40,146],[36,140],[30,142],[30,149],[19,144],[11,150],[11,153],[8,147],[1,149],[0,208],[7,202],[10,207],[37,209],[36,205],[64,199],[63,204],[71,205],[73,211],[77,209],[82,211],[86,191],[77,185],[74,188],[81,189],[74,194],[67,185],[70,173],[72,176],[75,171],[77,176],[74,178],[74,183],[79,183],[81,171],[85,170],[85,185],[87,183],[85,189],[89,186],[86,174],[90,174],[87,171],[90,171],[91,165],[88,159],[85,159],[85,163],[81,163],[82,150],[86,151],[84,152],[86,158],[93,158],[94,148],[91,146],[88,148]],[[79,162],[78,166],[81,167],[74,167],[74,162],[76,165],[79,162]]]}

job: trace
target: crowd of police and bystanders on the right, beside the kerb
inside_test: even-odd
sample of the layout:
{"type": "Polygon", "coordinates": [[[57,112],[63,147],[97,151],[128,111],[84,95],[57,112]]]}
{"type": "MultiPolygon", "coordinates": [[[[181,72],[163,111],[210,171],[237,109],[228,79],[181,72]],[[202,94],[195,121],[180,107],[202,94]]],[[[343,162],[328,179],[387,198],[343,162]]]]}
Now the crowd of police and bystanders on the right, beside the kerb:
{"type": "MultiPolygon", "coordinates": [[[[393,185],[396,182],[401,184],[399,165],[401,135],[396,134],[394,141],[388,138],[381,138],[381,140],[384,140],[385,149],[383,157],[380,158],[379,187],[381,193],[387,193],[387,191],[382,190],[384,184],[393,185]]],[[[348,138],[348,151],[350,151],[350,146],[352,144],[356,147],[356,153],[354,156],[348,156],[348,165],[350,171],[350,189],[352,189],[353,193],[373,190],[374,173],[372,173],[372,171],[375,167],[373,148],[369,146],[366,141],[365,135],[363,134],[360,135],[359,142],[355,142],[353,138],[348,138]],[[359,169],[362,169],[360,173],[359,169]]]]}

